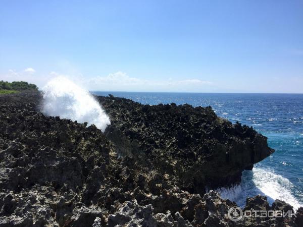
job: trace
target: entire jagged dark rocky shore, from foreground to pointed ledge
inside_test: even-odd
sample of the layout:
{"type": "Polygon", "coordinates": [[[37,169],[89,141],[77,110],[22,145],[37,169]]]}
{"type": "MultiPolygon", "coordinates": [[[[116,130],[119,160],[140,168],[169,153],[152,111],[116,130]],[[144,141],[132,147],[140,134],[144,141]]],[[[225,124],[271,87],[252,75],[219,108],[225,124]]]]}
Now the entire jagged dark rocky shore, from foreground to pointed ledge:
{"type": "MultiPolygon", "coordinates": [[[[0,226],[303,226],[292,218],[228,216],[216,189],[240,181],[273,149],[211,107],[142,105],[96,96],[104,133],[40,113],[41,94],[0,96],[0,226]]],[[[266,197],[244,210],[292,210],[266,197]]]]}

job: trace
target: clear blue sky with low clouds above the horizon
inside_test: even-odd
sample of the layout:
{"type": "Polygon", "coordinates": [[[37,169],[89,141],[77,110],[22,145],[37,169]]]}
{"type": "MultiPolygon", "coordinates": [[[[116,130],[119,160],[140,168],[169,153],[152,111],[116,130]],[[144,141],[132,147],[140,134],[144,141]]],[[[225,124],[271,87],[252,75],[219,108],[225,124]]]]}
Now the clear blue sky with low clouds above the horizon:
{"type": "Polygon", "coordinates": [[[40,88],[303,93],[303,1],[11,1],[0,80],[40,88]]]}

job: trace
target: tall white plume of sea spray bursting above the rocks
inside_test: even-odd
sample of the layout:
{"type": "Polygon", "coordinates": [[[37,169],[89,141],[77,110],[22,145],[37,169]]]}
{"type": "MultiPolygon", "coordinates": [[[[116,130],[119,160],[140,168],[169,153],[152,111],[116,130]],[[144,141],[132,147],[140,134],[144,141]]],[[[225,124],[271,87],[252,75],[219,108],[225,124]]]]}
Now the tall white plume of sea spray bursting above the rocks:
{"type": "Polygon", "coordinates": [[[47,116],[87,122],[88,126],[94,124],[103,132],[111,124],[110,118],[88,91],[65,77],[48,81],[42,90],[42,112],[47,116]]]}

